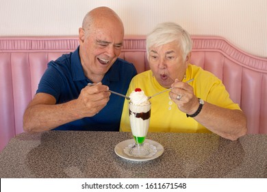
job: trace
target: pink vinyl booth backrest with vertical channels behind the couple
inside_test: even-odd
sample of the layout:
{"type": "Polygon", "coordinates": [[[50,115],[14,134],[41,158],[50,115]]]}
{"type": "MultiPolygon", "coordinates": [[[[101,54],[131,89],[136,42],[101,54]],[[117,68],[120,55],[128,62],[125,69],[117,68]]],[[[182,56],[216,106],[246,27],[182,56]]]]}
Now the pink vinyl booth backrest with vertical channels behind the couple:
{"type": "MultiPolygon", "coordinates": [[[[267,59],[218,36],[192,36],[191,63],[217,75],[248,119],[249,134],[267,134],[267,59]]],[[[23,112],[50,60],[73,51],[77,37],[0,38],[0,150],[23,132],[23,112]]],[[[126,36],[121,58],[148,70],[145,36],[126,36]]]]}

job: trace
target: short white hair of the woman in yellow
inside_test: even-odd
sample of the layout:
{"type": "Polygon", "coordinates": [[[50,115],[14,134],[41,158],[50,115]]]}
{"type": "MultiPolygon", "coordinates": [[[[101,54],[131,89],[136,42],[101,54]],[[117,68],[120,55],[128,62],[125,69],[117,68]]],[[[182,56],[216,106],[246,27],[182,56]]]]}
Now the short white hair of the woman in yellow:
{"type": "Polygon", "coordinates": [[[147,55],[149,56],[151,47],[166,45],[175,40],[183,52],[183,59],[185,60],[192,50],[192,40],[190,34],[183,27],[173,22],[160,23],[147,35],[147,55]]]}

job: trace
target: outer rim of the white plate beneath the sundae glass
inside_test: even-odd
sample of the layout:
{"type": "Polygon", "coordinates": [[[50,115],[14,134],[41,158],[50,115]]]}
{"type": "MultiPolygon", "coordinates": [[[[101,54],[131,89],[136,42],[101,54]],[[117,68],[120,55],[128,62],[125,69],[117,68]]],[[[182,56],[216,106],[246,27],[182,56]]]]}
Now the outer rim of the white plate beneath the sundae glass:
{"type": "Polygon", "coordinates": [[[125,154],[125,152],[123,152],[123,148],[120,147],[120,145],[125,145],[125,147],[127,146],[127,143],[134,143],[134,139],[127,139],[125,141],[120,141],[120,143],[118,143],[115,147],[114,147],[114,152],[117,156],[119,156],[120,158],[124,158],[126,160],[132,160],[132,161],[147,161],[147,160],[153,160],[155,158],[158,158],[159,156],[161,156],[164,152],[164,147],[160,144],[157,143],[157,141],[153,141],[151,139],[146,139],[145,141],[147,141],[148,143],[153,143],[153,145],[157,145],[157,147],[161,147],[162,150],[160,150],[160,152],[157,152],[154,156],[151,157],[147,157],[147,158],[138,158],[138,157],[133,157],[133,156],[128,156],[127,154],[125,154]],[[125,143],[125,144],[124,144],[125,143]],[[118,149],[121,151],[121,153],[118,153],[118,149]]]}

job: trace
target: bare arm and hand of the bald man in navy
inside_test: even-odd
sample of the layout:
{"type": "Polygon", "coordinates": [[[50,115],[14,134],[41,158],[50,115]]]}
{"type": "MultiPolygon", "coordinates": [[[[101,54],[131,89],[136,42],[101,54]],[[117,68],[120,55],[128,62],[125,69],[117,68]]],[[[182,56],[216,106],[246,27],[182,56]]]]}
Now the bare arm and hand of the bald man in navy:
{"type": "Polygon", "coordinates": [[[32,99],[23,116],[25,132],[51,130],[65,123],[97,114],[110,99],[108,87],[86,86],[77,99],[55,104],[55,97],[38,93],[32,99]]]}

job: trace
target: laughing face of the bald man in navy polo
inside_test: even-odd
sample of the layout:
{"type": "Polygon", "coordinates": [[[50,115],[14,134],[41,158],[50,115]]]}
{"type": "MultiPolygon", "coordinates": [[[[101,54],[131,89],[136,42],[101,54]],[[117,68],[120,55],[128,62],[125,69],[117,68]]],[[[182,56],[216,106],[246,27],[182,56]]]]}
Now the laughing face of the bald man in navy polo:
{"type": "Polygon", "coordinates": [[[112,22],[97,23],[90,32],[79,29],[81,64],[90,80],[101,80],[112,67],[120,55],[123,36],[123,28],[112,22]]]}

